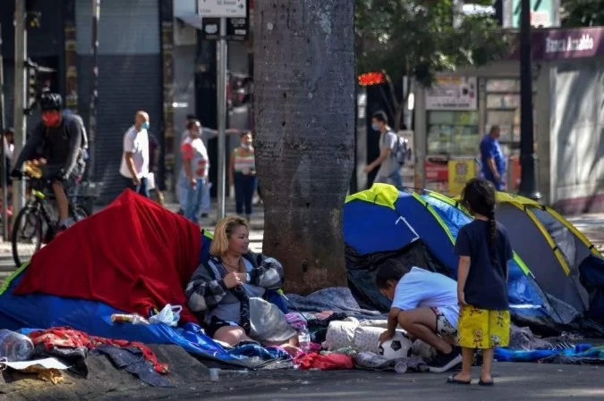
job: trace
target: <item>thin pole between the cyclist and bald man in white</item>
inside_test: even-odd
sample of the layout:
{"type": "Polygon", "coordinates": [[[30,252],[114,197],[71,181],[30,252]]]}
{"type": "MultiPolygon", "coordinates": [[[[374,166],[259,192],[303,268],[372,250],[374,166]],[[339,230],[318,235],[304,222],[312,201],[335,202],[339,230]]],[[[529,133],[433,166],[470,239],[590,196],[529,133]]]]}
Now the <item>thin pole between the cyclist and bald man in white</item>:
{"type": "Polygon", "coordinates": [[[97,99],[98,99],[98,20],[100,19],[100,0],[92,0],[92,82],[90,84],[89,109],[89,168],[88,179],[96,179],[97,162],[97,99]]]}

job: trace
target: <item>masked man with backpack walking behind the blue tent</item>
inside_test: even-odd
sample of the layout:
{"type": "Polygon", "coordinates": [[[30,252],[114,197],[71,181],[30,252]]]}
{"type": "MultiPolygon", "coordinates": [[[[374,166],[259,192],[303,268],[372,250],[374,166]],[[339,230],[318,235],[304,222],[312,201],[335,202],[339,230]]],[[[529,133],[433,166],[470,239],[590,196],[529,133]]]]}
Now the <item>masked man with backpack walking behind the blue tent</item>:
{"type": "Polygon", "coordinates": [[[396,133],[388,127],[388,118],[384,112],[376,112],[371,116],[371,128],[379,132],[379,156],[363,171],[370,173],[379,166],[378,175],[374,182],[392,184],[396,188],[403,187],[401,166],[395,158],[397,145],[396,133]]]}

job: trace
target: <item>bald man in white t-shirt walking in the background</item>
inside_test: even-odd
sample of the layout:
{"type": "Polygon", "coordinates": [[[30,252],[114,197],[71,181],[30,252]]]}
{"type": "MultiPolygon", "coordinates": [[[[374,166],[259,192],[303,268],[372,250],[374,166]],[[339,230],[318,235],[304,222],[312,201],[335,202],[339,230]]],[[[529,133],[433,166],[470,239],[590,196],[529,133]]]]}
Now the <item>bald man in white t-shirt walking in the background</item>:
{"type": "Polygon", "coordinates": [[[123,135],[123,157],[120,165],[125,187],[149,197],[149,114],[137,112],[134,125],[123,135]]]}

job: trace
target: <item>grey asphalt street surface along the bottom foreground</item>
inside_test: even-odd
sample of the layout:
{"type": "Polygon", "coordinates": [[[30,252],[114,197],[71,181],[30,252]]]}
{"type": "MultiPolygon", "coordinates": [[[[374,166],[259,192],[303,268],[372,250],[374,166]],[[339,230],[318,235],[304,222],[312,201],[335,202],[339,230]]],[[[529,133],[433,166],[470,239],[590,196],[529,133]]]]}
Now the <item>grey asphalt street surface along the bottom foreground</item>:
{"type": "MultiPolygon", "coordinates": [[[[604,367],[540,363],[495,363],[496,385],[482,388],[447,385],[447,374],[328,371],[221,373],[219,382],[201,382],[196,390],[155,390],[134,400],[183,401],[510,401],[601,400],[604,367]]],[[[478,371],[474,371],[478,375],[478,371]]],[[[448,373],[450,374],[450,373],[448,373]]],[[[142,396],[142,395],[140,395],[142,396]]],[[[109,398],[112,399],[112,398],[109,398]]],[[[116,398],[115,398],[116,399],[116,398]]],[[[132,399],[132,398],[129,398],[132,399]]]]}

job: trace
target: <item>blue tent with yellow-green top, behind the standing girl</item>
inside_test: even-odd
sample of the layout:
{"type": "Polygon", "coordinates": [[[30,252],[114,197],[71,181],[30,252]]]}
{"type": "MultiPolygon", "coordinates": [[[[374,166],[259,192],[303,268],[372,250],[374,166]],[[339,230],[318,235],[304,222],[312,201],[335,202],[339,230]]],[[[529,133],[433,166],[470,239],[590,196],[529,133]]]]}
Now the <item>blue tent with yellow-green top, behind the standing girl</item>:
{"type": "MultiPolygon", "coordinates": [[[[404,255],[414,243],[421,243],[422,252],[430,263],[415,264],[416,256],[407,263],[456,278],[455,238],[470,218],[443,199],[448,198],[398,191],[387,184],[375,184],[346,198],[344,237],[349,283],[355,289],[355,295],[375,294],[372,277],[379,264],[397,251],[404,255]]],[[[562,323],[531,272],[517,256],[510,263],[508,293],[516,322],[549,328],[562,323]]],[[[383,309],[383,298],[375,298],[378,301],[373,305],[383,309]]],[[[361,301],[367,302],[367,297],[362,297],[361,301]]]]}

